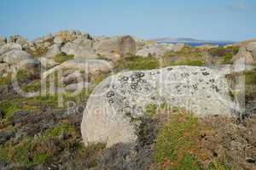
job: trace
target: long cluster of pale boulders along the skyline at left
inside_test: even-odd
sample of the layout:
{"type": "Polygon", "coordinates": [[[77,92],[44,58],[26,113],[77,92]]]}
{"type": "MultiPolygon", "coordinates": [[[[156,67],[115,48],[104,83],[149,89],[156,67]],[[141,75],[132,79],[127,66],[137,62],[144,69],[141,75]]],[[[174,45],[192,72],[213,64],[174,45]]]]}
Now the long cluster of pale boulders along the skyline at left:
{"type": "MultiPolygon", "coordinates": [[[[22,68],[41,65],[46,70],[60,65],[55,61],[58,54],[73,55],[73,59],[86,63],[88,59],[105,59],[117,62],[122,57],[140,55],[143,57],[160,56],[167,51],[177,51],[183,44],[157,45],[131,36],[92,37],[81,31],[58,31],[54,35],[48,34],[33,41],[19,35],[9,38],[0,37],[0,76],[7,76],[8,72],[22,68]],[[29,61],[25,65],[21,61],[29,61]]],[[[90,63],[93,63],[91,60],[90,63]]],[[[74,61],[77,62],[77,61],[74,61]]],[[[67,66],[67,63],[63,64],[67,66]]],[[[61,65],[61,67],[63,66],[61,65]]],[[[54,68],[54,70],[58,69],[54,68]]],[[[51,72],[51,71],[49,71],[51,72]]]]}

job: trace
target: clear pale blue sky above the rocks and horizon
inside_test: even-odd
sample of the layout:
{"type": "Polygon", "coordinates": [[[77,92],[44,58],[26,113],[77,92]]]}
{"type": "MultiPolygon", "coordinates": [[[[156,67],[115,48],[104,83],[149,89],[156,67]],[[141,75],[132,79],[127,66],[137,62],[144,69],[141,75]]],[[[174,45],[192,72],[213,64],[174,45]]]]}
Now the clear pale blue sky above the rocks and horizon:
{"type": "Polygon", "coordinates": [[[0,35],[33,39],[77,29],[92,35],[256,37],[255,0],[1,0],[0,35]]]}

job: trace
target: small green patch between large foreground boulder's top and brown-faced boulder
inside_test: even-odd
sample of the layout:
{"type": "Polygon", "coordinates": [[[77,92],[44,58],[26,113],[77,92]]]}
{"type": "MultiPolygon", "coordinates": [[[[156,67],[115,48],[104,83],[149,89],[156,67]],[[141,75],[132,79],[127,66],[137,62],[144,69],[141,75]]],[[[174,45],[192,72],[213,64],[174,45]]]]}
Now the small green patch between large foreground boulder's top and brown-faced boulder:
{"type": "Polygon", "coordinates": [[[129,69],[129,70],[152,70],[160,67],[160,61],[154,57],[140,57],[131,56],[128,58],[122,58],[116,65],[119,69],[129,69]]]}

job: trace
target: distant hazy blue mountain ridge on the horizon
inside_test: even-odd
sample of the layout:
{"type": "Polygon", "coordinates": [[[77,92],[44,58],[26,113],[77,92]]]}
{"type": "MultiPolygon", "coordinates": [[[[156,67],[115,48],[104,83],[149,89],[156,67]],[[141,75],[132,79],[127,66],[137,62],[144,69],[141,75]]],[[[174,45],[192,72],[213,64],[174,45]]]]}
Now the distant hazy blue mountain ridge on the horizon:
{"type": "Polygon", "coordinates": [[[154,39],[150,39],[152,41],[155,42],[173,42],[173,43],[177,43],[177,42],[205,42],[205,43],[214,43],[214,42],[230,42],[230,43],[234,43],[233,41],[212,41],[212,40],[198,40],[195,38],[189,38],[189,37],[177,37],[177,38],[173,38],[173,37],[160,37],[160,38],[154,38],[154,39]]]}

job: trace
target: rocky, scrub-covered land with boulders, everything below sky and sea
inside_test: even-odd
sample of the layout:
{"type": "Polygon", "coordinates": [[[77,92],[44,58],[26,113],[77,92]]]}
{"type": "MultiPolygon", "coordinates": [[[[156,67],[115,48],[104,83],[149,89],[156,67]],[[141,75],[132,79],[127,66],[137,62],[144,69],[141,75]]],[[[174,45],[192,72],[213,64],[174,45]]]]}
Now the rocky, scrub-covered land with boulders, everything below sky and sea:
{"type": "Polygon", "coordinates": [[[0,37],[0,169],[256,169],[255,52],[0,37]]]}

